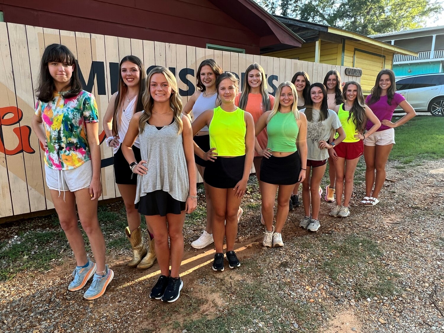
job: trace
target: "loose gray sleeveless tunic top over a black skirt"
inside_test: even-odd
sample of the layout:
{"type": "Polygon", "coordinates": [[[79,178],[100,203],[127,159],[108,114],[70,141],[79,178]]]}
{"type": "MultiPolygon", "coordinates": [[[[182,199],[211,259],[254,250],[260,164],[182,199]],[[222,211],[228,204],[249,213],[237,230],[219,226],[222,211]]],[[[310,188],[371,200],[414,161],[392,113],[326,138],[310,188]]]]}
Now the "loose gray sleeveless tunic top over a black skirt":
{"type": "Polygon", "coordinates": [[[188,169],[182,133],[178,135],[177,131],[176,121],[160,130],[145,123],[139,141],[140,155],[147,161],[148,171],[143,176],[137,175],[135,203],[155,190],[163,190],[178,201],[186,201],[189,193],[188,169]]]}

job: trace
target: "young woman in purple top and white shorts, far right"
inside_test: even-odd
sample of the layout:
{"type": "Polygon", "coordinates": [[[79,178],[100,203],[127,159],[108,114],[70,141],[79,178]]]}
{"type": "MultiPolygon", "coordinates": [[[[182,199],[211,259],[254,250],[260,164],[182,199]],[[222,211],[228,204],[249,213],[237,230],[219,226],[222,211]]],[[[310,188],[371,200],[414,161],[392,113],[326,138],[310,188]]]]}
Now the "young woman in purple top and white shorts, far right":
{"type": "MultiPolygon", "coordinates": [[[[385,165],[395,143],[394,128],[407,123],[416,115],[416,112],[403,95],[396,93],[395,74],[391,69],[383,69],[379,72],[372,93],[367,96],[365,103],[381,121],[381,127],[364,140],[365,197],[359,204],[374,206],[379,202],[379,192],[385,182],[385,165]],[[393,111],[398,105],[406,115],[396,123],[392,123],[393,111]]],[[[372,126],[373,124],[368,121],[367,130],[372,126]]]]}

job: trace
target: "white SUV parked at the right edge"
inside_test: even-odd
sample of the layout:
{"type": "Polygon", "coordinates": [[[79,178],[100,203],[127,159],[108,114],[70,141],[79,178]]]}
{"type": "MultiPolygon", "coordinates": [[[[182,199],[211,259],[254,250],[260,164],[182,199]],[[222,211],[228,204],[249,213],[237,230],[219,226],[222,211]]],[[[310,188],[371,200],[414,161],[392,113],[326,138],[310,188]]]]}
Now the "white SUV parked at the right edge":
{"type": "MultiPolygon", "coordinates": [[[[412,75],[396,81],[396,92],[403,95],[416,112],[444,116],[444,73],[412,75]]],[[[397,108],[396,111],[402,111],[397,108]]]]}

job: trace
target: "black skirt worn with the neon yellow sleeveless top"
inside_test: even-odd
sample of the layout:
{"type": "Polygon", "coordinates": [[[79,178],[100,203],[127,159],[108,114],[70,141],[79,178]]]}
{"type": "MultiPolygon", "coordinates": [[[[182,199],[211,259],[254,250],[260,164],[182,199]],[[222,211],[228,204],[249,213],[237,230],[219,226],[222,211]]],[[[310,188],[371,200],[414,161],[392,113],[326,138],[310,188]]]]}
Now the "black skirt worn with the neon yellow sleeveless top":
{"type": "Polygon", "coordinates": [[[213,187],[233,188],[244,175],[244,165],[245,155],[218,157],[214,162],[208,162],[203,179],[213,187]]]}

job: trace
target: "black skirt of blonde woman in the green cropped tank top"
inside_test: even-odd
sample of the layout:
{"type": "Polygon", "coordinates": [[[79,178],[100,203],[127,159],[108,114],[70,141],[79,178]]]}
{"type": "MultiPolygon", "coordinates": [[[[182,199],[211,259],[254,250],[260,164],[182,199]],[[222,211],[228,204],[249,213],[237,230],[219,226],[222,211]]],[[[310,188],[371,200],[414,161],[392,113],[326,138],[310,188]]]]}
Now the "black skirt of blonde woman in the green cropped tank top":
{"type": "Polygon", "coordinates": [[[274,185],[293,185],[299,180],[301,159],[299,153],[285,157],[263,158],[261,162],[261,182],[274,185]]]}

